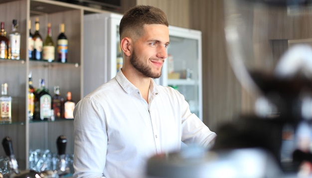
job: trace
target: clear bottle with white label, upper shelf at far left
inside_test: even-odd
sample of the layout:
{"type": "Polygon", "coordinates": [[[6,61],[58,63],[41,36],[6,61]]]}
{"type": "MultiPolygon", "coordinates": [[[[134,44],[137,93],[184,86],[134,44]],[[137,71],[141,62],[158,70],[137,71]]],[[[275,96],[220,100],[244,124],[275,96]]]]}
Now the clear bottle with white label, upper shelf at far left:
{"type": "Polygon", "coordinates": [[[9,58],[19,59],[20,55],[20,33],[17,31],[17,20],[13,19],[12,21],[12,32],[10,33],[10,42],[9,42],[9,58]]]}

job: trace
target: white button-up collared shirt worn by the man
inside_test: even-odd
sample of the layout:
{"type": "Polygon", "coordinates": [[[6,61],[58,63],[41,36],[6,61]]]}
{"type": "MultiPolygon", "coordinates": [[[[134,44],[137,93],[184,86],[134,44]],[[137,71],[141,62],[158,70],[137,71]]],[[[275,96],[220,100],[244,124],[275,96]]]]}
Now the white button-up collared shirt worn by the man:
{"type": "Polygon", "coordinates": [[[151,79],[147,103],[121,70],[77,103],[74,118],[74,178],[144,178],[153,155],[216,137],[177,90],[151,79]]]}

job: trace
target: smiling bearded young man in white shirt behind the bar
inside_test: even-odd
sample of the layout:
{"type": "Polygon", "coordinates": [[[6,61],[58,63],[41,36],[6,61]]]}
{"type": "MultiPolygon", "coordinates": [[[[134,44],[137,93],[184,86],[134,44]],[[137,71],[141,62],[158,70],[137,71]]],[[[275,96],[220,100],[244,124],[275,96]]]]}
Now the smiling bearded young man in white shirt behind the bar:
{"type": "Polygon", "coordinates": [[[163,11],[138,5],[120,22],[123,67],[74,110],[74,178],[144,178],[153,155],[216,137],[184,97],[156,85],[169,45],[163,11]]]}

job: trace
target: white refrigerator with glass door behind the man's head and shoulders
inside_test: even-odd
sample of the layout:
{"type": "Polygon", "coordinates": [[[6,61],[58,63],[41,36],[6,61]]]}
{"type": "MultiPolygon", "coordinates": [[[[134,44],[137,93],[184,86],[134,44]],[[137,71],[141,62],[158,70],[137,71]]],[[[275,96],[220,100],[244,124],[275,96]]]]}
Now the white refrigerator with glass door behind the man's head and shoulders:
{"type": "MultiPolygon", "coordinates": [[[[83,96],[114,78],[122,66],[117,13],[84,15],[83,96]]],[[[202,120],[201,31],[169,25],[170,44],[156,83],[184,95],[192,113],[202,120]]]]}

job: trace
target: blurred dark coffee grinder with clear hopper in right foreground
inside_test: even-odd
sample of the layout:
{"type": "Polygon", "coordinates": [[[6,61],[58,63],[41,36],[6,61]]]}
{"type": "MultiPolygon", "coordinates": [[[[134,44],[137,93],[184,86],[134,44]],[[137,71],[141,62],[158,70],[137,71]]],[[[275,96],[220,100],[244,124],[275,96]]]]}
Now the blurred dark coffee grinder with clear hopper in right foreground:
{"type": "Polygon", "coordinates": [[[229,61],[255,105],[217,131],[214,150],[264,148],[302,175],[312,163],[312,0],[224,0],[224,12],[229,61]]]}

